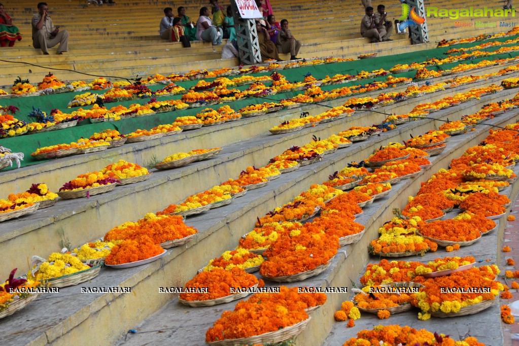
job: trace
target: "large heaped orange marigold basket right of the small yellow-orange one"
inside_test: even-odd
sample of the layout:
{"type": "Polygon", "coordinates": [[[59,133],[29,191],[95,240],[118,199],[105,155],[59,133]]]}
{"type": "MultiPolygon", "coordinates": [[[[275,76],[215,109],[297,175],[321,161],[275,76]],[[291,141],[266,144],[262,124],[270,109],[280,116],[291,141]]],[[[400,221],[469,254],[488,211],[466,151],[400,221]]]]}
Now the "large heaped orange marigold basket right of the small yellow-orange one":
{"type": "Polygon", "coordinates": [[[339,246],[337,236],[303,226],[290,234],[281,234],[265,250],[263,254],[268,260],[262,263],[260,274],[276,282],[305,280],[326,270],[339,246]]]}

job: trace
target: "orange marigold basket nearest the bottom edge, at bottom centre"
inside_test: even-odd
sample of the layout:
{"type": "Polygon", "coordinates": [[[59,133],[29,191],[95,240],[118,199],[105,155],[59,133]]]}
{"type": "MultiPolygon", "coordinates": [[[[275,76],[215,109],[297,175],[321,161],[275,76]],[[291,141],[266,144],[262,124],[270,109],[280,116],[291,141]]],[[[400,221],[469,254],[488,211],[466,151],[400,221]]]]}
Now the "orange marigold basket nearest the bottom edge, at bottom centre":
{"type": "Polygon", "coordinates": [[[304,307],[308,304],[299,299],[283,299],[278,293],[255,294],[248,301],[240,301],[233,312],[224,312],[206,332],[206,342],[223,346],[289,340],[301,333],[310,321],[304,307]],[[254,297],[256,299],[252,300],[254,297]],[[240,321],[257,323],[238,327],[240,321]]]}

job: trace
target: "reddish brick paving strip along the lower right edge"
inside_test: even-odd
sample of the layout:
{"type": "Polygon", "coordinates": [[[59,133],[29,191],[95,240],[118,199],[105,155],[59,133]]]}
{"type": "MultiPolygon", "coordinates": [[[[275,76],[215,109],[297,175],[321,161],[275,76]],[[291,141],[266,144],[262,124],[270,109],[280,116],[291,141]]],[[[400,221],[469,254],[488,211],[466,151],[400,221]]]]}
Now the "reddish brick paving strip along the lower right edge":
{"type": "MultiPolygon", "coordinates": [[[[514,221],[508,221],[505,219],[507,223],[504,229],[504,238],[502,246],[510,246],[512,251],[510,252],[501,252],[501,249],[498,249],[501,252],[501,260],[499,263],[499,268],[501,269],[501,274],[504,278],[505,270],[516,271],[519,270],[519,196],[516,197],[512,206],[510,207],[510,215],[515,216],[514,221]],[[515,261],[515,266],[507,266],[507,259],[512,258],[515,261]]],[[[512,281],[516,281],[519,283],[519,279],[504,279],[503,283],[510,287],[510,292],[513,295],[511,299],[500,299],[500,305],[511,304],[512,302],[519,300],[519,290],[512,289],[512,281]]],[[[503,346],[519,346],[519,316],[515,317],[514,324],[504,324],[502,323],[503,330],[503,346]],[[515,340],[515,335],[517,334],[517,339],[515,340]]]]}

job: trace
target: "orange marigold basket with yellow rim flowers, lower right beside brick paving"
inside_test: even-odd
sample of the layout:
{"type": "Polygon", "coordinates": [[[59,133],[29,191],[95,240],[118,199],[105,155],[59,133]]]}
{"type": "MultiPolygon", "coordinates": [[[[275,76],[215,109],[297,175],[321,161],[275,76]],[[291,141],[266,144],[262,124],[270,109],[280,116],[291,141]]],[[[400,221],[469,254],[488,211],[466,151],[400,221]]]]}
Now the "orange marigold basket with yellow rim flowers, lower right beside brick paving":
{"type": "Polygon", "coordinates": [[[471,268],[429,278],[421,282],[425,287],[412,295],[411,303],[422,312],[418,319],[435,317],[455,317],[470,315],[490,307],[503,290],[503,285],[495,281],[499,268],[496,265],[471,268]],[[448,292],[445,291],[445,287],[448,292]],[[452,289],[454,287],[454,289],[452,289]],[[488,292],[489,291],[489,292],[488,292]]]}

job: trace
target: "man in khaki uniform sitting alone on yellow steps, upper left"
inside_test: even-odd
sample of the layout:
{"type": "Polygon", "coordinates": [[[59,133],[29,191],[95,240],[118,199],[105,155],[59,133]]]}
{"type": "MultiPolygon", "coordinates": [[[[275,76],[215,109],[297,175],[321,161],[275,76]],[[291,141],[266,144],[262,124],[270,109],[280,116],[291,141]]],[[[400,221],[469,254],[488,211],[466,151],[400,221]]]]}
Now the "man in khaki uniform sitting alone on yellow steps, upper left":
{"type": "Polygon", "coordinates": [[[60,31],[59,26],[54,26],[47,3],[38,4],[38,13],[32,19],[32,29],[33,47],[41,48],[44,54],[49,54],[48,48],[58,43],[58,54],[69,50],[69,33],[66,30],[60,31]]]}

